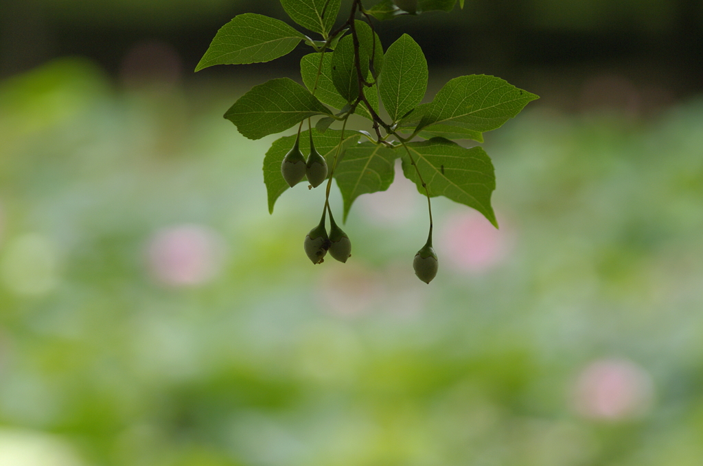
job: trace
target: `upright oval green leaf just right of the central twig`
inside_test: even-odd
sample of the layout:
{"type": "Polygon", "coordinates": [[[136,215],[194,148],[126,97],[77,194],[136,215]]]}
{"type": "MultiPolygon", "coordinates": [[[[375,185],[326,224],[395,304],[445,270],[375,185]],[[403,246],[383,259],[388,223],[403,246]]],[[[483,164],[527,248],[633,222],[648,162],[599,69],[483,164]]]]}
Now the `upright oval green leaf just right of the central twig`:
{"type": "Polygon", "coordinates": [[[427,90],[427,60],[417,42],[403,34],[386,52],[378,90],[393,121],[418,105],[427,90]]]}

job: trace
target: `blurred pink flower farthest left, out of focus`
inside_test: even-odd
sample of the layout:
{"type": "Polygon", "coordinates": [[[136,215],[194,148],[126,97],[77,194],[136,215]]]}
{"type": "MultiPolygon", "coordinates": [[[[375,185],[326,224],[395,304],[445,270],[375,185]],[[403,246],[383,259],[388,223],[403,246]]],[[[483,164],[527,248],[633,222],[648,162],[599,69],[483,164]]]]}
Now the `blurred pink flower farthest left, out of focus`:
{"type": "Polygon", "coordinates": [[[150,241],[151,272],[164,284],[195,286],[214,278],[221,269],[224,241],[202,225],[162,229],[150,241]]]}

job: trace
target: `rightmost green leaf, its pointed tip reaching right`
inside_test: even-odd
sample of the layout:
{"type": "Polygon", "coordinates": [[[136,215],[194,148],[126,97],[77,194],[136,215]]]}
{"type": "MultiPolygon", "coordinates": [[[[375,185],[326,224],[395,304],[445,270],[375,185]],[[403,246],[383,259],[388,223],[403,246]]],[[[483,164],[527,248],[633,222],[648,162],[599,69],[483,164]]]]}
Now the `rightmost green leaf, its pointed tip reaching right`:
{"type": "Polygon", "coordinates": [[[404,117],[401,126],[449,124],[484,133],[499,128],[535,99],[537,95],[495,76],[460,76],[445,84],[432,102],[404,117]]]}

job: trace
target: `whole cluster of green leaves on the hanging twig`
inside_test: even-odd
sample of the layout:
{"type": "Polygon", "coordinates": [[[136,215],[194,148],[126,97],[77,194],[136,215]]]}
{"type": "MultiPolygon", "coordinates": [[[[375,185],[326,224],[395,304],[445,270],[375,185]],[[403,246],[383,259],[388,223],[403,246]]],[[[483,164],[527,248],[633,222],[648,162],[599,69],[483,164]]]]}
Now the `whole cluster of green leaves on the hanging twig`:
{"type": "MultiPolygon", "coordinates": [[[[254,86],[225,114],[250,139],[299,125],[296,136],[276,140],[266,152],[269,211],[288,189],[280,176],[283,157],[295,140],[302,150],[309,149],[311,132],[330,167],[325,209],[334,178],[342,192],[345,220],[356,197],[389,187],[394,161],[400,158],[404,175],[427,196],[429,243],[430,198],[435,196],[475,208],[497,227],[491,207],[496,185],[491,159],[481,147],[467,149],[453,140],[483,142],[483,133],[500,127],[538,97],[496,76],[470,75],[451,79],[430,102],[421,103],[428,79],[422,49],[408,34],[384,48],[375,32],[375,20],[451,11],[457,1],[382,0],[366,9],[361,0],[353,0],[342,24],[336,24],[340,0],[280,1],[297,25],[319,37],[281,20],[245,13],[217,32],[195,69],[266,62],[300,42],[313,49],[300,61],[302,85],[288,78],[271,79],[254,86]],[[348,129],[352,114],[368,119],[370,131],[348,129]],[[316,124],[311,117],[318,117],[316,124]],[[306,119],[309,129],[302,131],[306,119]],[[330,129],[335,123],[341,129],[330,129]]],[[[463,3],[459,1],[462,8],[463,3]]]]}

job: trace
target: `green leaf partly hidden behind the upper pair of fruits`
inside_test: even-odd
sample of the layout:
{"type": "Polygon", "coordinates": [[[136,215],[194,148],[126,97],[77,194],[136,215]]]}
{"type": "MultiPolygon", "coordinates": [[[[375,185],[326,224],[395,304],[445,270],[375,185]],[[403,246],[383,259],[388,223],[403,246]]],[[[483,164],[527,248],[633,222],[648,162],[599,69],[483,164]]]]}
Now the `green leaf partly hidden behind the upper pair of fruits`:
{"type": "MultiPolygon", "coordinates": [[[[315,142],[317,151],[327,159],[328,166],[332,166],[337,145],[342,138],[342,131],[330,129],[324,134],[318,131],[312,132],[312,139],[315,142]]],[[[349,145],[356,144],[359,140],[359,134],[353,131],[344,132],[344,142],[342,142],[342,153],[349,145]]],[[[280,197],[286,189],[289,189],[288,183],[283,180],[280,174],[280,164],[283,162],[283,157],[288,154],[288,151],[293,147],[295,142],[295,134],[283,136],[273,142],[271,148],[266,152],[264,157],[264,184],[266,184],[266,192],[269,197],[269,213],[273,213],[273,205],[276,204],[276,199],[280,197]]],[[[310,152],[310,136],[309,131],[300,133],[300,150],[303,154],[310,152]]],[[[305,181],[305,180],[303,180],[305,181]]]]}

